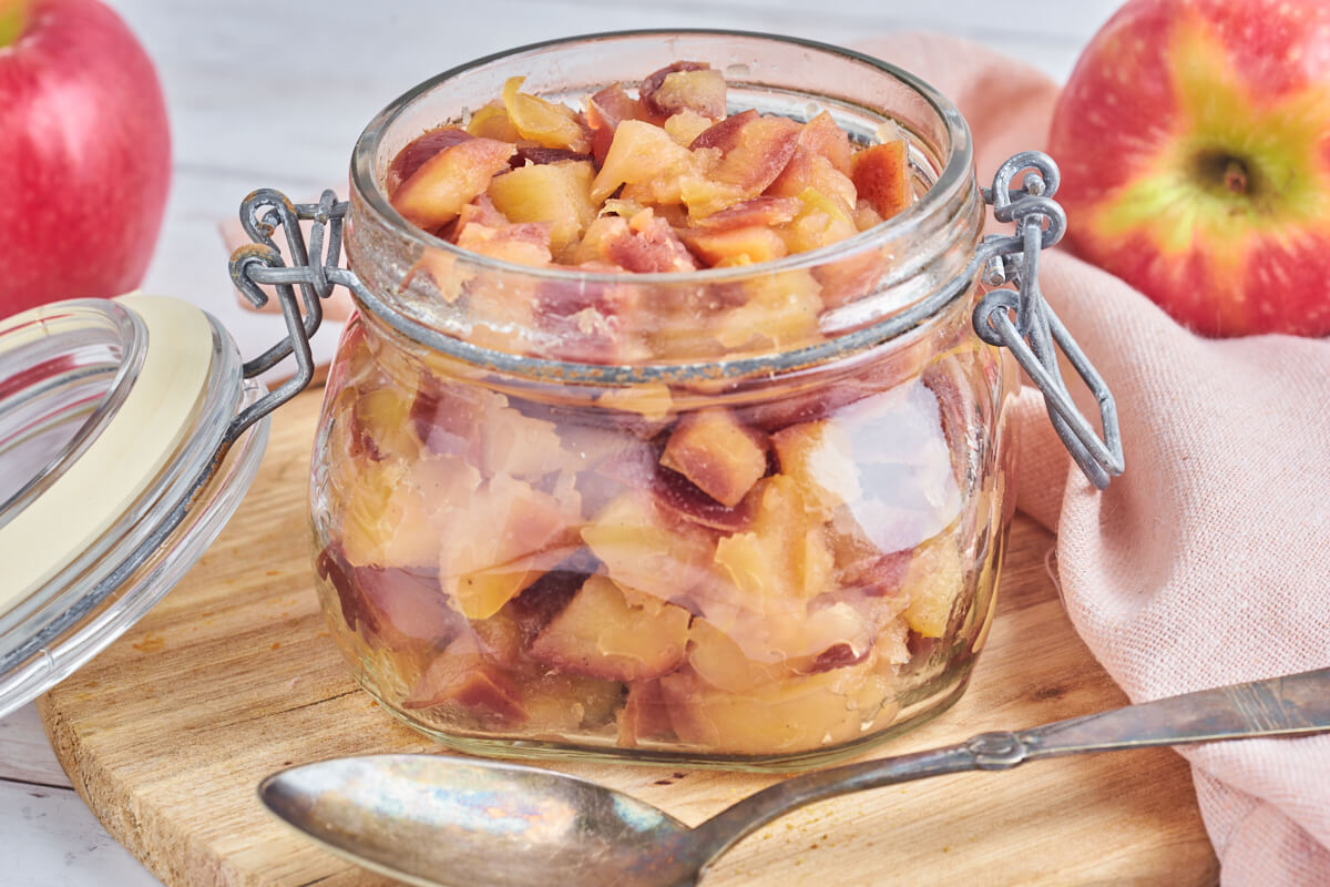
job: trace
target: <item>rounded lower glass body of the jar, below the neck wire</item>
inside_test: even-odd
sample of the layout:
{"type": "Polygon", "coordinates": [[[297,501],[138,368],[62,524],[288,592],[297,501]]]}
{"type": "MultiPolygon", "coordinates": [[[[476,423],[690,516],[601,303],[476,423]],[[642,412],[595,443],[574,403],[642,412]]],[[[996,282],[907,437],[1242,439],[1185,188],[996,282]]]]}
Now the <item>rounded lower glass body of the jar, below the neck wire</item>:
{"type": "Polygon", "coordinates": [[[1012,483],[1011,380],[964,307],[850,366],[608,404],[356,318],[311,496],[356,680],[505,755],[801,766],[940,710],[992,617],[1012,483]],[[724,461],[704,483],[734,505],[669,467],[688,453],[724,461]]]}

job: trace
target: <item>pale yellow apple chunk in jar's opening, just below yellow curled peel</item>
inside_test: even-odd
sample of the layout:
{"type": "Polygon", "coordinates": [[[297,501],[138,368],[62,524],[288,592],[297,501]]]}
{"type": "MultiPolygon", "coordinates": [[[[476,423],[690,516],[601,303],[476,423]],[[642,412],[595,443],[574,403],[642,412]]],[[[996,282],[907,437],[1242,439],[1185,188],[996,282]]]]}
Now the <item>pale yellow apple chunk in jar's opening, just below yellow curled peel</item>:
{"type": "Polygon", "coordinates": [[[591,202],[589,161],[523,166],[489,182],[495,207],[513,222],[549,223],[549,249],[561,254],[596,218],[591,202]]]}

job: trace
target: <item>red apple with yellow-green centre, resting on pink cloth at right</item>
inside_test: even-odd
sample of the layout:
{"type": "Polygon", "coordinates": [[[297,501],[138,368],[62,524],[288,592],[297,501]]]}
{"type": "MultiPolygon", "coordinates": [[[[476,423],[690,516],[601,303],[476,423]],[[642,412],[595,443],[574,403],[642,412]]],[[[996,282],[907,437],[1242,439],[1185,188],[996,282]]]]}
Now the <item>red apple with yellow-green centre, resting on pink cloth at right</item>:
{"type": "Polygon", "coordinates": [[[1068,246],[1182,324],[1330,334],[1330,3],[1130,0],[1048,149],[1068,246]]]}

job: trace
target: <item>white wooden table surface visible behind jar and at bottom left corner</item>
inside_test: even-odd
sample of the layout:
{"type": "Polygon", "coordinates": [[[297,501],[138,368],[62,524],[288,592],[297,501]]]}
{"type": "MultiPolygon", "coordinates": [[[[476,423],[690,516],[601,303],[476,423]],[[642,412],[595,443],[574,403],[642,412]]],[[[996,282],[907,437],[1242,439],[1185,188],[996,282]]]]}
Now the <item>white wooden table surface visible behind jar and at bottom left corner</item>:
{"type": "MultiPolygon", "coordinates": [[[[154,59],[174,181],[144,289],[221,317],[246,354],[281,320],[235,307],[217,231],[250,190],[310,199],[346,181],[351,145],[392,97],[444,68],[593,31],[717,27],[851,44],[902,29],[955,33],[1064,78],[1115,0],[110,0],[154,59]]],[[[344,186],[340,188],[344,191],[344,186]]],[[[321,335],[327,354],[334,336],[321,335]]],[[[0,719],[0,883],[158,884],[69,786],[32,706],[0,719]]]]}

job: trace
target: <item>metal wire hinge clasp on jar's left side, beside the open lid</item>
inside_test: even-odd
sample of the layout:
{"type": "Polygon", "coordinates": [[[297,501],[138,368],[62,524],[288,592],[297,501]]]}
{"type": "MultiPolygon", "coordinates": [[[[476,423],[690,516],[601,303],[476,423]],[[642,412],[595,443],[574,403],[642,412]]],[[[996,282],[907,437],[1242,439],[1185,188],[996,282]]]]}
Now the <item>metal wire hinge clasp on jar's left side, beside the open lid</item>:
{"type": "Polygon", "coordinates": [[[231,254],[231,282],[254,307],[267,303],[267,294],[261,285],[275,287],[287,330],[285,339],[245,363],[245,378],[257,376],[291,354],[295,355],[295,375],[231,420],[226,430],[227,445],[251,424],[303,391],[314,378],[310,336],[323,322],[321,299],[326,299],[335,285],[346,282],[343,277],[347,271],[338,267],[338,261],[342,250],[342,219],[347,206],[350,203],[338,201],[331,190],[323,191],[318,203],[293,203],[286,194],[270,188],[254,191],[241,203],[241,223],[254,242],[231,254]],[[314,222],[310,227],[309,249],[305,245],[305,233],[301,230],[302,221],[314,222]],[[286,235],[291,267],[282,261],[282,254],[273,241],[278,227],[286,235]],[[315,257],[313,262],[311,254],[315,257]],[[295,287],[301,290],[299,301],[295,297],[295,287]]]}

